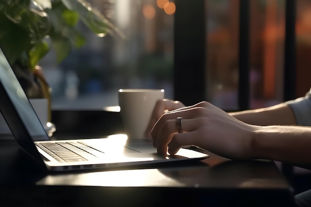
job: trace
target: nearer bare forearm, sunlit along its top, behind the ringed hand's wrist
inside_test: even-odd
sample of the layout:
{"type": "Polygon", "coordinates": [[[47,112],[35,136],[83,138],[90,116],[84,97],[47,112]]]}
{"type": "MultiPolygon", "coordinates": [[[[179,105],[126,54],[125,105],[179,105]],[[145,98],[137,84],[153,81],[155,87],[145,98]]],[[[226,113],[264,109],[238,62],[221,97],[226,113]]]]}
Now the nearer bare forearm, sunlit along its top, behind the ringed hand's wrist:
{"type": "Polygon", "coordinates": [[[288,162],[311,169],[311,127],[255,127],[250,151],[255,158],[288,162]]]}

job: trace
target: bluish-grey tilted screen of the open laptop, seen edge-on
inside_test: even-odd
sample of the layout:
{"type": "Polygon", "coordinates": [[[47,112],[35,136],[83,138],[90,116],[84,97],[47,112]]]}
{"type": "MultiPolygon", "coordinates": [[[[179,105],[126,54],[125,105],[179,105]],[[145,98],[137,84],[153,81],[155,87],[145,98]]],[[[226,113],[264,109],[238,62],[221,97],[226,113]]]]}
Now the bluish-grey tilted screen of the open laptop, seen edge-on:
{"type": "MultiPolygon", "coordinates": [[[[46,132],[42,127],[35,111],[33,110],[24,90],[19,84],[11,66],[0,49],[0,82],[29,135],[34,137],[45,137],[46,132]]],[[[3,99],[3,97],[1,97],[3,99]]],[[[0,99],[0,100],[1,100],[0,99]]],[[[5,118],[5,117],[4,117],[5,118]]],[[[6,119],[6,118],[5,118],[6,119]]]]}

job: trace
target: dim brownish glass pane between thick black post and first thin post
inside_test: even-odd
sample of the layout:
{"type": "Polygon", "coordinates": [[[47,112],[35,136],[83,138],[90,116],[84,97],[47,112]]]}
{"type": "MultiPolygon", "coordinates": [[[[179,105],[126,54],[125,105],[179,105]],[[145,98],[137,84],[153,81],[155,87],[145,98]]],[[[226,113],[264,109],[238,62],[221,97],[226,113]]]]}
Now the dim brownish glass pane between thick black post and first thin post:
{"type": "Polygon", "coordinates": [[[238,0],[207,0],[208,100],[237,108],[238,0]]]}

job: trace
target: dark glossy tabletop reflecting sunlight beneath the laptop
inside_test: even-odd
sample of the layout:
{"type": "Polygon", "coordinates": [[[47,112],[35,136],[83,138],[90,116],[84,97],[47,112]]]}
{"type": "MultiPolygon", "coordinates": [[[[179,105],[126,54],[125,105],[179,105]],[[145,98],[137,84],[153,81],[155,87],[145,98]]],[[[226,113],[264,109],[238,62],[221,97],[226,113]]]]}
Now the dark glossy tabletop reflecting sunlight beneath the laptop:
{"type": "Polygon", "coordinates": [[[291,206],[293,203],[291,186],[270,160],[233,161],[208,152],[210,157],[202,161],[156,164],[144,169],[136,166],[46,174],[15,140],[0,139],[0,143],[0,191],[6,205],[16,192],[24,196],[14,200],[22,204],[30,202],[29,206],[33,205],[33,197],[40,198],[38,204],[46,206],[83,206],[86,201],[101,204],[99,201],[103,199],[105,204],[114,206],[184,205],[183,198],[189,195],[195,198],[195,202],[191,201],[196,206],[224,203],[291,206]],[[123,199],[117,198],[120,195],[123,199]],[[139,195],[145,199],[133,199],[139,195]]]}

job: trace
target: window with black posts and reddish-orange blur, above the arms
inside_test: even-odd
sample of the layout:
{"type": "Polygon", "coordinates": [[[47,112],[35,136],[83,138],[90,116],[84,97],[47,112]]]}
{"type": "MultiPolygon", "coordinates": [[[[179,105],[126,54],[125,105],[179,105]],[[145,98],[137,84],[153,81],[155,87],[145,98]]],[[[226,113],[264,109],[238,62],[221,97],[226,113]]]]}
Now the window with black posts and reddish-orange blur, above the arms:
{"type": "MultiPolygon", "coordinates": [[[[179,28],[179,24],[182,24],[180,22],[185,22],[188,19],[196,22],[194,24],[196,27],[191,27],[195,34],[187,35],[192,37],[191,44],[196,51],[205,54],[203,58],[199,57],[200,55],[195,52],[181,55],[180,48],[184,51],[189,48],[186,43],[183,43],[188,38],[184,37],[183,41],[175,39],[175,47],[179,49],[175,50],[175,56],[178,56],[175,58],[175,61],[177,61],[175,65],[179,67],[185,65],[178,63],[182,57],[186,57],[189,61],[201,62],[199,64],[193,62],[194,67],[191,71],[190,67],[188,69],[187,67],[184,67],[184,69],[175,68],[175,73],[183,73],[185,77],[182,79],[182,75],[175,74],[176,79],[178,77],[182,79],[178,80],[180,84],[175,83],[175,86],[177,85],[175,90],[182,90],[181,92],[175,92],[179,99],[188,100],[189,103],[193,104],[198,100],[192,96],[183,95],[193,92],[196,93],[196,97],[199,97],[200,100],[207,100],[222,109],[232,111],[267,107],[280,103],[286,99],[287,93],[291,93],[287,87],[289,84],[294,85],[294,88],[296,88],[293,95],[290,95],[291,98],[303,96],[310,89],[310,84],[306,80],[308,78],[307,74],[310,73],[308,69],[309,61],[307,61],[307,57],[309,57],[308,42],[311,37],[308,29],[309,22],[311,22],[310,15],[308,15],[310,13],[310,1],[204,0],[196,1],[196,4],[176,0],[175,22],[177,22],[177,28],[179,28]],[[287,3],[288,6],[286,6],[287,3]],[[182,17],[178,14],[178,11],[182,10],[180,6],[184,7],[183,14],[180,14],[180,16],[183,15],[182,17]],[[203,11],[200,9],[201,7],[204,7],[203,11]],[[204,20],[199,20],[202,13],[204,14],[204,20]],[[288,41],[291,39],[292,34],[285,31],[286,28],[291,26],[291,20],[286,21],[286,18],[291,16],[288,14],[293,14],[293,28],[290,29],[293,31],[293,36],[296,34],[295,41],[288,41]],[[241,19],[239,18],[240,15],[243,15],[241,19]],[[294,22],[295,18],[296,22],[294,22]],[[240,22],[242,22],[241,25],[240,22]],[[202,26],[205,27],[205,31],[198,29],[198,27],[202,26]],[[202,38],[201,34],[204,34],[205,38],[202,38]],[[200,42],[197,41],[198,39],[200,39],[200,42]],[[183,44],[183,46],[177,46],[177,44],[183,44]],[[203,49],[200,47],[202,44],[206,44],[203,49]],[[293,48],[290,48],[291,44],[293,44],[293,48]],[[247,53],[245,54],[244,50],[246,56],[243,57],[243,55],[240,55],[240,50],[241,48],[245,49],[245,47],[247,53]],[[285,64],[288,62],[288,58],[284,58],[285,53],[289,54],[286,52],[286,48],[290,48],[287,51],[291,53],[289,57],[293,59],[293,66],[289,66],[291,63],[285,64]],[[297,53],[297,56],[295,53],[297,53]],[[297,59],[296,62],[295,58],[297,59]],[[206,63],[202,69],[203,60],[206,63]],[[245,65],[245,62],[249,75],[246,74],[242,79],[239,79],[240,73],[242,73],[240,67],[245,65]],[[197,80],[195,83],[192,80],[194,86],[187,82],[188,77],[192,77],[192,75],[195,76],[193,80],[197,80]],[[202,79],[202,77],[204,78],[202,79]],[[288,79],[291,80],[288,81],[288,79]],[[239,94],[240,85],[243,81],[249,81],[249,95],[239,94]],[[185,82],[187,87],[191,89],[183,88],[185,82]],[[200,89],[201,87],[204,87],[204,89],[200,89]],[[247,107],[241,107],[239,102],[241,100],[245,101],[245,99],[249,99],[249,104],[247,107]]],[[[175,32],[178,33],[175,37],[178,37],[182,30],[176,30],[175,32]]],[[[246,86],[248,87],[248,84],[246,86]]]]}

